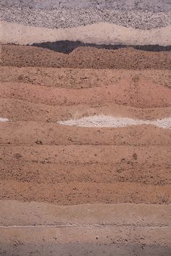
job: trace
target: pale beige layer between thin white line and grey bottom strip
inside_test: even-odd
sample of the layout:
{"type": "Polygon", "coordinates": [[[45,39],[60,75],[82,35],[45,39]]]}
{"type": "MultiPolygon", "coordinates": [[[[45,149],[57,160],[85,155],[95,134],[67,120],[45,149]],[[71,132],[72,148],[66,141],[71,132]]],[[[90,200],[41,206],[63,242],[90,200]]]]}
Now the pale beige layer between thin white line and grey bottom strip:
{"type": "Polygon", "coordinates": [[[171,228],[66,227],[0,228],[0,242],[7,244],[161,244],[170,246],[171,228]],[[81,235],[80,235],[81,234],[81,235]]]}

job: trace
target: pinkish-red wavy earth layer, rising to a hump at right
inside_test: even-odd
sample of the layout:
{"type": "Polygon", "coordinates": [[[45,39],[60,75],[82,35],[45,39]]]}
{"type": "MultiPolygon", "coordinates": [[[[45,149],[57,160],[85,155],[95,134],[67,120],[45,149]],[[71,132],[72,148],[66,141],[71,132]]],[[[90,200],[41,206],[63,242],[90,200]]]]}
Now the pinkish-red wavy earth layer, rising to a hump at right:
{"type": "Polygon", "coordinates": [[[1,83],[0,96],[43,104],[122,104],[132,107],[170,107],[171,90],[134,77],[112,86],[68,89],[31,86],[30,83],[1,83]],[[17,89],[16,89],[17,88],[17,89]]]}

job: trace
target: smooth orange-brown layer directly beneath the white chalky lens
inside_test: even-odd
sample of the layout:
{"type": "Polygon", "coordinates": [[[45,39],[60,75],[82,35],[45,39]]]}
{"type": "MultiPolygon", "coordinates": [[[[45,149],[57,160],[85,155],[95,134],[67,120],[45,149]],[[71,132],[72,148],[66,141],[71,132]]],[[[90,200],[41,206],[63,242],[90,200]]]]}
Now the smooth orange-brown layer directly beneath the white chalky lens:
{"type": "Polygon", "coordinates": [[[170,135],[168,129],[149,125],[127,128],[80,128],[41,122],[9,122],[0,125],[0,144],[11,145],[169,146],[170,135]]]}

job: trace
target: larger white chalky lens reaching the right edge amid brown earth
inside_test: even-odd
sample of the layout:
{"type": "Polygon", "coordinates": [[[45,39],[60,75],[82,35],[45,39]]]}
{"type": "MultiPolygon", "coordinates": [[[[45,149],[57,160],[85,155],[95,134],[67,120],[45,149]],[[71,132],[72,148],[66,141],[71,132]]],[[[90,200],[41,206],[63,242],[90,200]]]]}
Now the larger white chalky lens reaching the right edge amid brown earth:
{"type": "Polygon", "coordinates": [[[171,117],[157,120],[138,120],[128,117],[112,117],[107,115],[93,115],[78,120],[59,121],[60,125],[80,127],[125,127],[129,125],[156,125],[161,128],[171,128],[171,117]]]}

